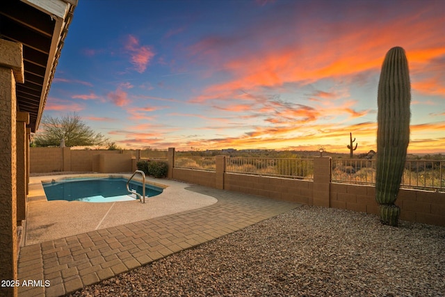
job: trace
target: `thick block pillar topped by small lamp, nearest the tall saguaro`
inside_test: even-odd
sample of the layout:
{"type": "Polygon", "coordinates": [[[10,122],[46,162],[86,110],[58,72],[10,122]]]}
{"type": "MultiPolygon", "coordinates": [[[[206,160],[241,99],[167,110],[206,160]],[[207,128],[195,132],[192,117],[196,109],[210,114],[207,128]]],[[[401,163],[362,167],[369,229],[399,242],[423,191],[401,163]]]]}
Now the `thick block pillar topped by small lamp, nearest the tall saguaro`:
{"type": "Polygon", "coordinates": [[[314,206],[330,207],[331,157],[314,158],[314,206]]]}

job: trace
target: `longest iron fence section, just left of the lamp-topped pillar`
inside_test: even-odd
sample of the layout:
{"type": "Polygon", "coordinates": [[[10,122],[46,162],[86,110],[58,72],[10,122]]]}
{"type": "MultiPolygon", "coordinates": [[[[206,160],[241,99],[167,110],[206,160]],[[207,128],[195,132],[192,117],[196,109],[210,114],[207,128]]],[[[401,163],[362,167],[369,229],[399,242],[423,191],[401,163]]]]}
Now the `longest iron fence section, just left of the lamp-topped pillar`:
{"type": "Polygon", "coordinates": [[[296,179],[314,178],[314,159],[227,157],[226,172],[296,179]]]}

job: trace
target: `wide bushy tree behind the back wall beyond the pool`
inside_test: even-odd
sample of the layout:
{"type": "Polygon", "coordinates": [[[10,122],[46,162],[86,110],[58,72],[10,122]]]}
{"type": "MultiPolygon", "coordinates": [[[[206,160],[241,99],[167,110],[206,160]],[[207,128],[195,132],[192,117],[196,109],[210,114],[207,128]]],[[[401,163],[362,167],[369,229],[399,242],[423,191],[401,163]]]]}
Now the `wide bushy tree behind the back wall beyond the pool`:
{"type": "Polygon", "coordinates": [[[108,139],[96,133],[76,113],[62,118],[44,116],[42,132],[35,135],[33,143],[37,147],[59,146],[62,141],[67,147],[104,145],[108,139]]]}

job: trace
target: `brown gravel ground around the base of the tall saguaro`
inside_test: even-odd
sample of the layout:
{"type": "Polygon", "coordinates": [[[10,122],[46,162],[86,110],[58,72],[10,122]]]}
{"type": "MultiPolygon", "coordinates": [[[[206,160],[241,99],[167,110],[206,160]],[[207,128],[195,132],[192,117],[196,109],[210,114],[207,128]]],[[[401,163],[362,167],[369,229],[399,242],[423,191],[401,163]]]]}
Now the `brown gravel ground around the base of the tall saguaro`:
{"type": "Polygon", "coordinates": [[[445,296],[445,227],[299,207],[69,296],[445,296]]]}

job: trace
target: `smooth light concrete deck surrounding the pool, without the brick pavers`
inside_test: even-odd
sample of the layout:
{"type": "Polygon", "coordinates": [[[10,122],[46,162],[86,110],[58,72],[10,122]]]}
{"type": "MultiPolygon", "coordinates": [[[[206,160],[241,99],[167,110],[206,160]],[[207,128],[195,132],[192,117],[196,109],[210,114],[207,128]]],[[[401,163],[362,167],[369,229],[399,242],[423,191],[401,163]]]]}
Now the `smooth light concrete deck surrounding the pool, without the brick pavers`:
{"type": "MultiPolygon", "coordinates": [[[[189,184],[149,177],[146,179],[147,184],[154,184],[164,189],[163,193],[159,195],[145,198],[145,203],[136,200],[100,203],[65,200],[47,201],[42,186],[42,181],[51,181],[52,179],[109,176],[122,176],[128,179],[131,174],[74,174],[30,177],[28,215],[22,246],[175,214],[176,212],[197,209],[217,202],[216,198],[208,195],[184,190],[189,184]]],[[[139,180],[137,177],[135,179],[139,180]]]]}

